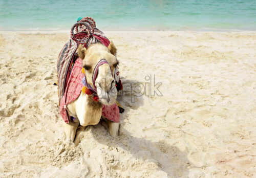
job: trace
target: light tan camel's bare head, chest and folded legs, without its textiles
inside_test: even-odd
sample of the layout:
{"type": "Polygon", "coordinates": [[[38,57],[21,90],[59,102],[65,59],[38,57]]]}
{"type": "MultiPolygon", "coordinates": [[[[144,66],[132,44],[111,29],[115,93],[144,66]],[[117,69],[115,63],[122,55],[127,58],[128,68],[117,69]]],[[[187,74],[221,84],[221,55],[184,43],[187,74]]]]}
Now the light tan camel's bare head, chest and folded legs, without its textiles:
{"type": "MultiPolygon", "coordinates": [[[[102,118],[102,104],[112,105],[115,103],[117,89],[115,80],[112,76],[112,71],[114,71],[118,64],[118,60],[116,59],[116,47],[112,41],[108,48],[101,43],[96,43],[86,49],[80,44],[77,53],[82,59],[87,82],[91,86],[93,86],[92,77],[95,66],[101,59],[105,59],[108,63],[99,66],[97,78],[95,80],[99,101],[95,101],[92,95],[84,95],[81,92],[75,101],[67,105],[68,115],[77,119],[74,122],[70,121],[69,123],[65,123],[64,130],[66,133],[66,140],[73,141],[75,145],[79,144],[81,133],[86,126],[99,123],[100,118],[102,118]]],[[[117,136],[119,123],[112,122],[106,118],[102,119],[105,120],[103,126],[110,132],[110,135],[117,136]]]]}

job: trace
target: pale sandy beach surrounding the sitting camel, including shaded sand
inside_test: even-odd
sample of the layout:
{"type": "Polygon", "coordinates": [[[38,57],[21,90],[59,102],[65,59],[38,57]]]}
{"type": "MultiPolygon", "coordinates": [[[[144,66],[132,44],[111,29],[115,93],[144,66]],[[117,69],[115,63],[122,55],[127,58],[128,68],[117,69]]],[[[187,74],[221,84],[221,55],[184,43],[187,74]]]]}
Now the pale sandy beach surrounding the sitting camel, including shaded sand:
{"type": "Polygon", "coordinates": [[[256,176],[256,32],[105,34],[120,136],[99,123],[74,147],[53,85],[69,33],[0,32],[1,177],[256,176]]]}

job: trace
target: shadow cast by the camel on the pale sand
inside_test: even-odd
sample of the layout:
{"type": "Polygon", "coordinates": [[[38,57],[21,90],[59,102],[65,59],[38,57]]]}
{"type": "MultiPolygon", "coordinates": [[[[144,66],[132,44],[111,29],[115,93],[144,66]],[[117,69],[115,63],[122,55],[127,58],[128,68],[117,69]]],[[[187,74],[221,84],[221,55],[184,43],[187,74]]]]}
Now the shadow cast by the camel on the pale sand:
{"type": "Polygon", "coordinates": [[[125,116],[129,113],[130,109],[137,109],[143,105],[143,97],[138,96],[138,91],[134,90],[135,86],[141,83],[136,80],[127,80],[122,78],[123,92],[118,97],[118,101],[123,105],[125,111],[120,114],[120,136],[114,138],[106,134],[106,136],[99,136],[98,129],[104,129],[101,124],[98,124],[92,129],[94,139],[104,145],[108,145],[118,151],[122,148],[130,152],[133,157],[145,162],[153,162],[158,165],[159,169],[166,172],[168,176],[187,177],[188,169],[193,168],[187,159],[187,153],[182,152],[176,146],[169,145],[163,141],[152,142],[144,138],[133,137],[131,132],[126,130],[122,123],[125,121],[125,116]],[[131,83],[132,87],[131,87],[131,83]],[[130,86],[129,86],[130,85],[130,86]],[[135,102],[131,102],[131,98],[136,98],[135,102]]]}

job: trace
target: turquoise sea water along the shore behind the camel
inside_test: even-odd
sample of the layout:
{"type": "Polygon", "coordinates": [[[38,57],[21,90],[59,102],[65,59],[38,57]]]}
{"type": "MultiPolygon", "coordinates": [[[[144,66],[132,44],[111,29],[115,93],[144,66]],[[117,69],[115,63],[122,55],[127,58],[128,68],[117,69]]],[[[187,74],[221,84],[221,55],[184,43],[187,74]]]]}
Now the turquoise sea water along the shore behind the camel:
{"type": "Polygon", "coordinates": [[[91,16],[101,30],[256,30],[256,0],[0,0],[0,30],[69,30],[91,16]]]}

